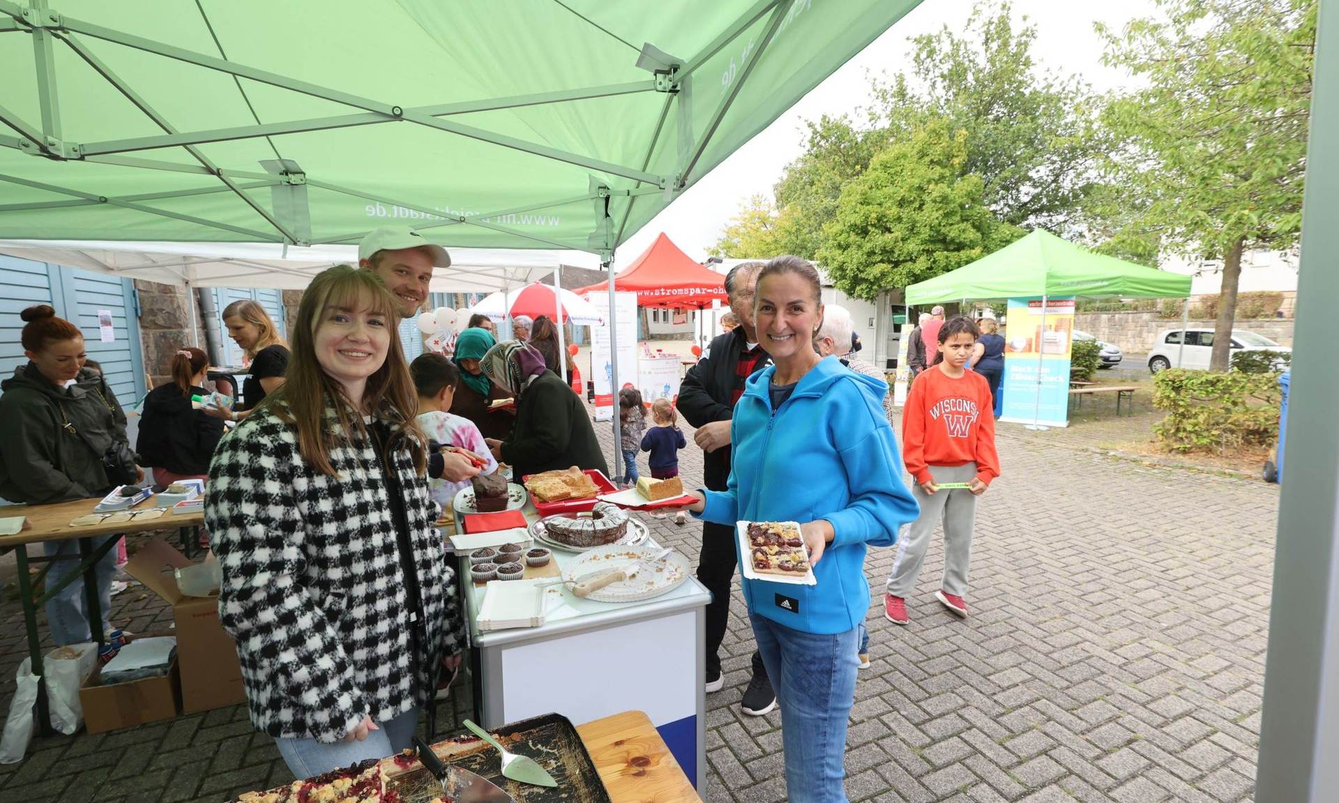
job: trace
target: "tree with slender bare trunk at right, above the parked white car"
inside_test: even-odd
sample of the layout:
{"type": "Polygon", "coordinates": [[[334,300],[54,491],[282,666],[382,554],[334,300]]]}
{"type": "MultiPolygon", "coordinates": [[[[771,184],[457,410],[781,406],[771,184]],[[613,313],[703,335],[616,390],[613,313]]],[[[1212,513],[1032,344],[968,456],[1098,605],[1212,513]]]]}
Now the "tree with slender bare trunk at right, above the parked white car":
{"type": "Polygon", "coordinates": [[[1127,238],[1223,260],[1210,368],[1228,369],[1241,254],[1302,226],[1315,0],[1158,0],[1162,16],[1106,37],[1137,92],[1107,103],[1109,183],[1141,213],[1127,238]]]}

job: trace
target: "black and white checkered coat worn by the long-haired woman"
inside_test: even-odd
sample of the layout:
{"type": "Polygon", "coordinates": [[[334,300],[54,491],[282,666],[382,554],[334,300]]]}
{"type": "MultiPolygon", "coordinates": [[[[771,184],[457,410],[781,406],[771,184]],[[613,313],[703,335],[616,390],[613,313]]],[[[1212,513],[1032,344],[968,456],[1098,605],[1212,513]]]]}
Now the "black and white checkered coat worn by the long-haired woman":
{"type": "MultiPolygon", "coordinates": [[[[325,418],[339,432],[333,408],[325,418]]],[[[218,616],[237,641],[252,723],[272,736],[335,741],[363,716],[384,723],[427,707],[439,656],[463,646],[437,505],[408,450],[390,459],[406,488],[427,625],[418,652],[382,460],[370,442],[329,458],[337,476],[307,464],[296,426],[262,408],[220,442],[209,467],[218,616]]]]}

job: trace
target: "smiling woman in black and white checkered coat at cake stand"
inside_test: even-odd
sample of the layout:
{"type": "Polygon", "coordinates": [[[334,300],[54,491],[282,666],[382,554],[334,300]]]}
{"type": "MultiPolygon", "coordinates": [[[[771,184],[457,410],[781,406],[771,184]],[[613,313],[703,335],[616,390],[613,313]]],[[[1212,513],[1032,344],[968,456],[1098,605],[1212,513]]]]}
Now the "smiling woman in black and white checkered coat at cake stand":
{"type": "Polygon", "coordinates": [[[317,276],[284,385],[214,454],[205,522],[252,723],[299,778],[410,745],[463,628],[391,294],[317,276]]]}

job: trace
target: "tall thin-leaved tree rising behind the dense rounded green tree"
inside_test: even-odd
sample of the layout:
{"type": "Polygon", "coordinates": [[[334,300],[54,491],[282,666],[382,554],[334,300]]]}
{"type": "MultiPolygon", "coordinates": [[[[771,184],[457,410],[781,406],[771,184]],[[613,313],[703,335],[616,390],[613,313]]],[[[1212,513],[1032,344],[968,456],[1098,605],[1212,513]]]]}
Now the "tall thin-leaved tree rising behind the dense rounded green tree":
{"type": "Polygon", "coordinates": [[[1105,146],[1097,102],[1074,76],[1038,68],[1036,28],[1015,25],[1010,3],[973,5],[963,33],[947,27],[915,37],[911,75],[874,82],[890,139],[931,118],[967,131],[963,174],[981,177],[1000,219],[1073,234],[1105,146]]]}

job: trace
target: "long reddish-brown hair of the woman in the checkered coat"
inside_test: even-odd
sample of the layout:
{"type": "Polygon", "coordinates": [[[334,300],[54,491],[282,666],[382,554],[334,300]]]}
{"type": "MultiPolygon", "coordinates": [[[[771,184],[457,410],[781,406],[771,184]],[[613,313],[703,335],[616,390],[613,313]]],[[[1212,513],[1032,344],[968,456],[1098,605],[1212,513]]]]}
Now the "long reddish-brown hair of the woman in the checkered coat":
{"type": "Polygon", "coordinates": [[[368,436],[363,416],[358,412],[358,402],[374,416],[390,419],[395,424],[387,451],[402,438],[407,439],[414,466],[419,472],[423,471],[423,434],[415,423],[418,393],[404,363],[399,327],[395,325],[399,320],[396,309],[395,298],[375,273],[351,265],[323,270],[303,293],[284,384],[265,396],[260,407],[273,410],[285,423],[297,424],[297,447],[303,459],[321,474],[335,476],[329,462],[332,446],[339,446],[343,439],[363,440],[368,436]],[[344,387],[331,379],[316,359],[316,331],[331,306],[367,309],[372,315],[384,316],[387,321],[391,343],[386,349],[386,361],[367,377],[360,400],[348,399],[344,387]],[[335,407],[337,432],[331,432],[325,426],[327,406],[335,407]]]}

